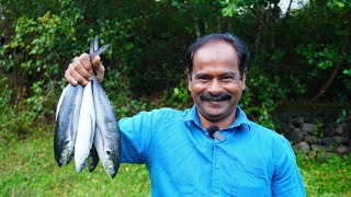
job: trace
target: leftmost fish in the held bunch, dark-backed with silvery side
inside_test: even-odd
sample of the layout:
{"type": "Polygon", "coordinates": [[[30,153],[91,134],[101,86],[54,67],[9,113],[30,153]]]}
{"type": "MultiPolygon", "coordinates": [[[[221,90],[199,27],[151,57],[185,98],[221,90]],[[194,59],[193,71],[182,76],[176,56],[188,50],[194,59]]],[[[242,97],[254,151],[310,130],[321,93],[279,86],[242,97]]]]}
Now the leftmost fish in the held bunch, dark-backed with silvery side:
{"type": "Polygon", "coordinates": [[[59,167],[68,164],[75,150],[76,119],[79,116],[80,100],[83,86],[68,84],[58,101],[56,108],[54,154],[59,167]]]}

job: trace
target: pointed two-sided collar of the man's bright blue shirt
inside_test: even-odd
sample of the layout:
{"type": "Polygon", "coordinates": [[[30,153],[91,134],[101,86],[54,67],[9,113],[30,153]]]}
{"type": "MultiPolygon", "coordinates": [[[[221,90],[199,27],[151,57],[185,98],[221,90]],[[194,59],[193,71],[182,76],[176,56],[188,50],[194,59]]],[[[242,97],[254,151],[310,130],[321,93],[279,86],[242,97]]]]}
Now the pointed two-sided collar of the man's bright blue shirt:
{"type": "MultiPolygon", "coordinates": [[[[229,126],[228,129],[235,128],[235,127],[239,127],[242,124],[249,125],[250,120],[248,119],[248,117],[246,116],[245,112],[239,106],[237,106],[237,108],[236,108],[236,116],[237,116],[237,118],[229,126]]],[[[192,108],[188,109],[188,113],[184,116],[183,121],[193,121],[199,127],[202,127],[201,124],[200,124],[200,118],[199,118],[199,115],[197,115],[196,105],[193,105],[192,108]]]]}

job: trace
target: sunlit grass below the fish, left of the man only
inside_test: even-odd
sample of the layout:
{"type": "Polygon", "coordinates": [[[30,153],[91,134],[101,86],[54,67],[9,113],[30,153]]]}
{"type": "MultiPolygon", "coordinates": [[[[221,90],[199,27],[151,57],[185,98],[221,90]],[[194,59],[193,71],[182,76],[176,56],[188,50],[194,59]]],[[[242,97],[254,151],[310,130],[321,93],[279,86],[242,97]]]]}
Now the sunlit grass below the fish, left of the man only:
{"type": "Polygon", "coordinates": [[[73,161],[58,167],[53,135],[0,144],[0,196],[150,196],[145,165],[122,164],[113,179],[101,162],[92,173],[77,174],[73,161]]]}

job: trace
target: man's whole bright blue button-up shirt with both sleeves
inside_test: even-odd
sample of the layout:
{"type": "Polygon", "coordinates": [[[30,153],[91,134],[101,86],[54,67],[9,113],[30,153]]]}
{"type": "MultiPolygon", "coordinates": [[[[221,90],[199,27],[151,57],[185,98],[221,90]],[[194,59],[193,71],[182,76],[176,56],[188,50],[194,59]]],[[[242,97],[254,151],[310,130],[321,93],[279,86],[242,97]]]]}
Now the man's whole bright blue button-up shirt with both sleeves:
{"type": "Polygon", "coordinates": [[[122,118],[121,162],[146,163],[152,196],[305,196],[290,142],[236,115],[224,141],[210,138],[195,105],[122,118]]]}

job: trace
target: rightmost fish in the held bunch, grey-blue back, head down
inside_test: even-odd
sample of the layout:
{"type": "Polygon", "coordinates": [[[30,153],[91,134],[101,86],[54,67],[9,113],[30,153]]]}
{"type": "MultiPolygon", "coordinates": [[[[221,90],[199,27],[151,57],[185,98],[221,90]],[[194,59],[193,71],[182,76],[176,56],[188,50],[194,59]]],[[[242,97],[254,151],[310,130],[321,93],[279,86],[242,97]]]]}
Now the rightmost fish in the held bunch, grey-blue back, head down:
{"type": "Polygon", "coordinates": [[[92,76],[92,92],[97,113],[94,146],[102,166],[110,177],[114,178],[118,172],[121,159],[121,134],[117,118],[95,74],[92,76]]]}

